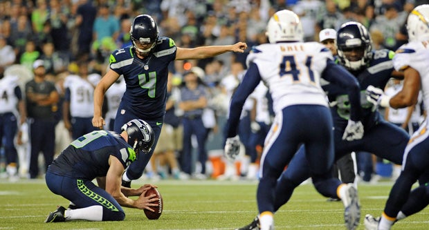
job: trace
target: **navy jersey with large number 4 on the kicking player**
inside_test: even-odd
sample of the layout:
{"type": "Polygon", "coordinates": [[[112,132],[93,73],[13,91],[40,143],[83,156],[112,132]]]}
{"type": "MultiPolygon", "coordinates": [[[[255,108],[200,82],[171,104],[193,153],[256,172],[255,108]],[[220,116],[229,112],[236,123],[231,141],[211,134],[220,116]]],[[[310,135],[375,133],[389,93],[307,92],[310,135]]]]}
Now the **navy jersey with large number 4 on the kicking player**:
{"type": "Polygon", "coordinates": [[[168,65],[176,59],[173,39],[161,37],[148,57],[140,59],[132,46],[110,55],[110,68],[127,83],[121,104],[140,119],[159,119],[165,113],[168,65]]]}

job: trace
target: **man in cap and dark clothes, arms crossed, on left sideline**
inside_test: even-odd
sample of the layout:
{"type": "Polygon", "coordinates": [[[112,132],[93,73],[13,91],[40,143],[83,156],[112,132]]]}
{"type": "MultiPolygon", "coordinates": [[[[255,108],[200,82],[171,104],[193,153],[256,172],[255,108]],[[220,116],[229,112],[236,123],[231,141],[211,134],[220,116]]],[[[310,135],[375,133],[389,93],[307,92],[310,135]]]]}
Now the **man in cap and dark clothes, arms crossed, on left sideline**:
{"type": "Polygon", "coordinates": [[[58,92],[53,82],[45,77],[44,61],[36,60],[33,64],[35,77],[26,84],[26,102],[30,122],[30,178],[39,175],[39,152],[44,154],[44,169],[53,161],[55,148],[55,117],[58,92]]]}

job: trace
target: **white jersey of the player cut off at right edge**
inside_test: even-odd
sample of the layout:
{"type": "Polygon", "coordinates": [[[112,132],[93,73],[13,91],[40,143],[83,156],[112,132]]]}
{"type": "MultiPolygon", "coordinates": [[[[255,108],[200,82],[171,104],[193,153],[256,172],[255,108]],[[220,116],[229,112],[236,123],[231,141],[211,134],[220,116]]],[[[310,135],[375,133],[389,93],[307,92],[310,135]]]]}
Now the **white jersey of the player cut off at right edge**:
{"type": "MultiPolygon", "coordinates": [[[[420,74],[423,104],[426,111],[429,109],[429,41],[413,41],[399,47],[393,57],[393,66],[396,70],[403,70],[408,66],[420,74]]],[[[429,124],[429,123],[428,123],[429,124]]]]}

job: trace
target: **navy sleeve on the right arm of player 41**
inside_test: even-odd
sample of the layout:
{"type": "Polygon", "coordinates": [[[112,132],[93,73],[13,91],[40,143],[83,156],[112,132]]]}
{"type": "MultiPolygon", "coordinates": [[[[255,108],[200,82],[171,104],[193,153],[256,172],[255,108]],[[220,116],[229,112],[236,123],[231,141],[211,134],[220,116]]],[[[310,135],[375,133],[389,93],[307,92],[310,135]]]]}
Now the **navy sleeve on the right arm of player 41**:
{"type": "Polygon", "coordinates": [[[322,73],[322,78],[347,88],[350,102],[350,119],[353,121],[360,120],[360,86],[359,82],[343,66],[335,64],[332,60],[327,60],[327,66],[322,73]]]}

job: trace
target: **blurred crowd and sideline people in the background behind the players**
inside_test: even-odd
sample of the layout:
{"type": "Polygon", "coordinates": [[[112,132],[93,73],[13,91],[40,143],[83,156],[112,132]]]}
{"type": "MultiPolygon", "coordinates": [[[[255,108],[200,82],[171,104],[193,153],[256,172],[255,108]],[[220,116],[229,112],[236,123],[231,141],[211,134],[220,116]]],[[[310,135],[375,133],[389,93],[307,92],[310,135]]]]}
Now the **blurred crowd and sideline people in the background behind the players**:
{"type": "MultiPolygon", "coordinates": [[[[408,13],[414,6],[428,2],[424,0],[0,0],[1,76],[17,76],[17,84],[23,95],[26,95],[28,91],[26,84],[34,78],[35,69],[42,65],[45,68],[46,81],[54,84],[58,94],[58,99],[53,100],[49,105],[51,108],[49,116],[52,115],[55,125],[55,138],[52,138],[55,140],[44,143],[53,145],[53,153],[45,153],[46,149],[41,148],[44,161],[39,159],[39,153],[32,153],[31,148],[35,146],[32,146],[29,140],[33,140],[34,137],[33,139],[26,137],[28,127],[22,125],[26,122],[21,122],[17,132],[19,138],[15,140],[19,157],[15,162],[10,162],[13,160],[8,162],[4,157],[2,158],[1,170],[6,171],[2,175],[9,178],[40,177],[49,164],[46,159],[52,160],[73,140],[76,135],[76,133],[73,134],[72,128],[76,123],[73,120],[73,111],[65,110],[66,113],[71,113],[71,116],[63,114],[64,102],[69,102],[66,107],[70,108],[70,102],[73,101],[65,98],[66,88],[70,88],[73,84],[68,85],[64,82],[73,82],[70,79],[77,76],[93,85],[97,84],[109,68],[111,52],[131,45],[129,29],[132,19],[137,15],[148,14],[154,17],[160,28],[160,36],[171,37],[181,48],[229,45],[237,41],[246,42],[248,47],[264,44],[267,42],[265,27],[268,19],[277,10],[289,9],[300,16],[306,41],[319,41],[318,35],[322,29],[337,30],[344,22],[359,21],[369,28],[375,49],[396,50],[407,41],[405,19],[408,13]],[[42,64],[36,63],[40,60],[42,64]],[[84,68],[83,72],[82,68],[84,68]],[[30,155],[33,156],[30,157],[30,155]],[[33,162],[30,163],[30,161],[33,162]],[[31,172],[30,164],[38,164],[41,168],[40,172],[35,169],[31,172]],[[12,169],[14,167],[15,169],[12,169]]],[[[170,66],[171,96],[167,103],[168,115],[163,127],[163,133],[169,135],[158,142],[158,149],[145,176],[154,180],[167,178],[170,175],[176,179],[208,177],[237,179],[240,175],[248,179],[257,179],[258,157],[262,153],[263,143],[257,141],[246,143],[245,148],[242,148],[245,149],[242,160],[239,162],[232,164],[222,159],[223,125],[228,114],[228,102],[246,71],[248,52],[250,48],[244,53],[229,52],[211,59],[174,61],[170,66]],[[192,84],[201,85],[206,90],[208,102],[202,112],[192,113],[183,110],[185,89],[192,84]],[[172,111],[168,112],[170,109],[172,111]],[[196,118],[201,116],[203,120],[201,131],[186,133],[187,124],[181,122],[183,113],[191,113],[196,118]],[[184,132],[185,135],[183,135],[184,132]],[[172,138],[174,138],[174,144],[171,143],[172,138]],[[183,148],[185,151],[194,151],[195,157],[190,160],[182,159],[183,148]],[[192,149],[199,149],[199,151],[192,149]],[[247,152],[253,154],[250,156],[247,152]]],[[[1,82],[1,84],[6,83],[1,82]]],[[[107,94],[111,99],[107,99],[106,120],[114,119],[117,108],[115,106],[120,99],[120,93],[123,93],[121,90],[125,90],[125,83],[118,82],[118,86],[120,84],[122,86],[118,87],[118,93],[112,92],[111,96],[107,94]]],[[[89,95],[89,101],[92,102],[91,88],[86,92],[89,95]]],[[[246,111],[249,114],[262,113],[264,109],[269,112],[268,108],[255,108],[258,102],[262,106],[269,104],[269,99],[265,95],[266,92],[262,97],[260,93],[259,96],[252,97],[253,102],[250,102],[246,111]]],[[[26,98],[26,96],[23,97],[26,98]]],[[[78,97],[78,95],[71,94],[71,97],[78,97]]],[[[93,108],[89,106],[86,110],[93,111],[93,108]]],[[[20,112],[17,111],[17,113],[20,112]]],[[[31,122],[32,119],[37,120],[34,116],[30,113],[28,116],[20,115],[21,118],[27,118],[27,122],[31,122]]],[[[43,116],[46,117],[48,114],[43,116]]],[[[269,117],[269,115],[265,117],[267,116],[269,117]]],[[[249,133],[264,131],[266,128],[262,128],[263,124],[269,126],[270,119],[257,120],[255,117],[257,116],[251,116],[248,122],[249,133]]],[[[109,129],[109,126],[105,128],[109,129]]],[[[30,135],[42,135],[43,129],[31,131],[30,135]]],[[[9,148],[2,148],[2,156],[5,155],[5,151],[9,151],[9,148]]]]}

